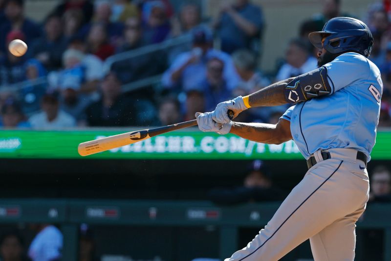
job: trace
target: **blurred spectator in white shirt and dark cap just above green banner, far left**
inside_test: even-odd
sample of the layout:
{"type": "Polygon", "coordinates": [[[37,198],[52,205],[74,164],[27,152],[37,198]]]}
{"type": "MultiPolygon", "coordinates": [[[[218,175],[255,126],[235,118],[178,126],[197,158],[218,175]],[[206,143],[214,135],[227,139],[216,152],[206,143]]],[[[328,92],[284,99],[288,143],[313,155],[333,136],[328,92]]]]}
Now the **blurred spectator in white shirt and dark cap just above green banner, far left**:
{"type": "Polygon", "coordinates": [[[61,129],[76,126],[76,120],[60,110],[58,92],[46,92],[41,101],[41,108],[42,112],[36,113],[28,119],[33,128],[61,129]]]}

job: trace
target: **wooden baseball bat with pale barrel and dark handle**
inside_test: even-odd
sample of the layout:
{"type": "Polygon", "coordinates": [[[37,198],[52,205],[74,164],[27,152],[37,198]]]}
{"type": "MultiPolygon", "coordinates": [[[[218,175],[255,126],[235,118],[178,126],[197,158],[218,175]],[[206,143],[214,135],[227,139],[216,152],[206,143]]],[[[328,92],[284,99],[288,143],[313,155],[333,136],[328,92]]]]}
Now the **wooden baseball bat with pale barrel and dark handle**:
{"type": "MultiPolygon", "coordinates": [[[[229,110],[228,116],[230,119],[233,119],[234,112],[229,110]]],[[[98,140],[80,143],[77,148],[77,151],[81,156],[88,156],[109,149],[122,147],[139,141],[144,141],[159,134],[163,134],[170,131],[179,130],[195,125],[197,125],[197,120],[193,119],[185,122],[154,128],[154,129],[131,131],[131,132],[113,135],[98,140]]]]}

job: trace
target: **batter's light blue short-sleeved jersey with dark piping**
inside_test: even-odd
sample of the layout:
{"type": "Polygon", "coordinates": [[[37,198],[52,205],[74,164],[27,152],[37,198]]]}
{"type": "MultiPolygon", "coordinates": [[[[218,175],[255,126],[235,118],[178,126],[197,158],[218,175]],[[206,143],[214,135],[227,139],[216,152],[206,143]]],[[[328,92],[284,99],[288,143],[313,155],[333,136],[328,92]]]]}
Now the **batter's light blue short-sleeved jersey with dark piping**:
{"type": "Polygon", "coordinates": [[[290,121],[293,140],[305,159],[319,149],[354,148],[369,161],[383,93],[380,71],[354,52],[324,66],[332,93],[298,103],[281,118],[290,121]]]}

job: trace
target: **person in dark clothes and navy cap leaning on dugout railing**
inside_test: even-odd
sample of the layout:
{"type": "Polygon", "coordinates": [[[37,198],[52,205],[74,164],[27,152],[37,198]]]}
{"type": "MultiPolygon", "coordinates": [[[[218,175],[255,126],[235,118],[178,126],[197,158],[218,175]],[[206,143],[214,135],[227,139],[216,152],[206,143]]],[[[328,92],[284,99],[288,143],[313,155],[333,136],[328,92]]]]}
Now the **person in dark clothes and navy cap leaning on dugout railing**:
{"type": "Polygon", "coordinates": [[[213,189],[209,192],[209,198],[217,204],[282,200],[285,193],[273,186],[270,175],[264,162],[255,160],[248,167],[243,186],[235,189],[213,189]]]}

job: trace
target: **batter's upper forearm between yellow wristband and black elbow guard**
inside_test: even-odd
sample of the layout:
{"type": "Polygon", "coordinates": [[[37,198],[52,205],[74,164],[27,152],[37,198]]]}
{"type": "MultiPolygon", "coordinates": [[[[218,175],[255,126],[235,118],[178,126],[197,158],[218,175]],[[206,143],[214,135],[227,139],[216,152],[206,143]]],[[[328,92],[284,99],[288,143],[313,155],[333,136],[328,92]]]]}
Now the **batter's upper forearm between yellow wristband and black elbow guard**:
{"type": "Polygon", "coordinates": [[[256,93],[248,95],[248,104],[251,107],[260,106],[277,106],[286,104],[284,89],[285,86],[292,81],[293,78],[289,78],[280,82],[276,82],[269,85],[256,93]]]}

